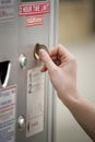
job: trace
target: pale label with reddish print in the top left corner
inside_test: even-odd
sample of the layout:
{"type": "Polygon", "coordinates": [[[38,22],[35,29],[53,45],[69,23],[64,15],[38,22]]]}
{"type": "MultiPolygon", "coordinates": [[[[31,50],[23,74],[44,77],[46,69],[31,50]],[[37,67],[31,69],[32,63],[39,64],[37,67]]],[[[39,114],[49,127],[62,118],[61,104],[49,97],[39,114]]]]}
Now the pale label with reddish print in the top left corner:
{"type": "Polygon", "coordinates": [[[0,0],[0,20],[14,17],[14,0],[0,0]]]}

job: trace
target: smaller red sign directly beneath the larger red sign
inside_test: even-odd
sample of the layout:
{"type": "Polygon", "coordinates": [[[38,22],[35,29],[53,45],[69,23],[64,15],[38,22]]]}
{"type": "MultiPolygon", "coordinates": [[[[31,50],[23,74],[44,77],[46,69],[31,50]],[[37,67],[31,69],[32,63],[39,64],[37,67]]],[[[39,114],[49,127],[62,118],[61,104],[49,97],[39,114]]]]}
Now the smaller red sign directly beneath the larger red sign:
{"type": "Polygon", "coordinates": [[[26,26],[36,26],[44,24],[44,15],[28,15],[26,16],[26,26]]]}

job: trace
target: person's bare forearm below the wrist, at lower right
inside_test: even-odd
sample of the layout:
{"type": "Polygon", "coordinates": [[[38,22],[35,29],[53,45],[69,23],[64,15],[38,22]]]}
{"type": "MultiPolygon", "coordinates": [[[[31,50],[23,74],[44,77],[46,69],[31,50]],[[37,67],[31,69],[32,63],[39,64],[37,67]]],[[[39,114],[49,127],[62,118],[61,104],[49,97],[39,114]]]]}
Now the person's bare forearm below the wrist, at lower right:
{"type": "Polygon", "coordinates": [[[95,106],[81,96],[68,99],[66,105],[84,131],[95,141],[95,106]]]}

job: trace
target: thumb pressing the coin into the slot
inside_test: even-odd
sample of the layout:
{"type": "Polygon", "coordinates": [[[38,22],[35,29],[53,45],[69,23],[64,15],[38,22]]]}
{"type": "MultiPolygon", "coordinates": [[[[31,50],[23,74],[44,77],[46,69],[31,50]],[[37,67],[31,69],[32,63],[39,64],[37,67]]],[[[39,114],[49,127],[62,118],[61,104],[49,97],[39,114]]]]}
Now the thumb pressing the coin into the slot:
{"type": "Polygon", "coordinates": [[[39,57],[40,57],[41,61],[44,62],[44,64],[46,66],[49,73],[51,73],[52,70],[57,68],[57,66],[54,63],[54,61],[51,60],[50,56],[48,55],[48,52],[46,50],[40,49],[39,57]]]}

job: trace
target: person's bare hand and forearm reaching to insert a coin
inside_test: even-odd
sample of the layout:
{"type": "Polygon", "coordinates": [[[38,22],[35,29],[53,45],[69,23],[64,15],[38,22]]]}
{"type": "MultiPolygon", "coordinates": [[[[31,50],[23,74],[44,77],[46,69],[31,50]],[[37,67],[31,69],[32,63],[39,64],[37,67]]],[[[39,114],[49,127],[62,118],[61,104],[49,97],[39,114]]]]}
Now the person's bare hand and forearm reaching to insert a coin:
{"type": "Polygon", "coordinates": [[[62,45],[48,54],[39,50],[44,62],[41,72],[48,71],[52,86],[61,102],[71,111],[84,131],[95,141],[95,105],[83,98],[76,87],[76,60],[62,45]]]}

